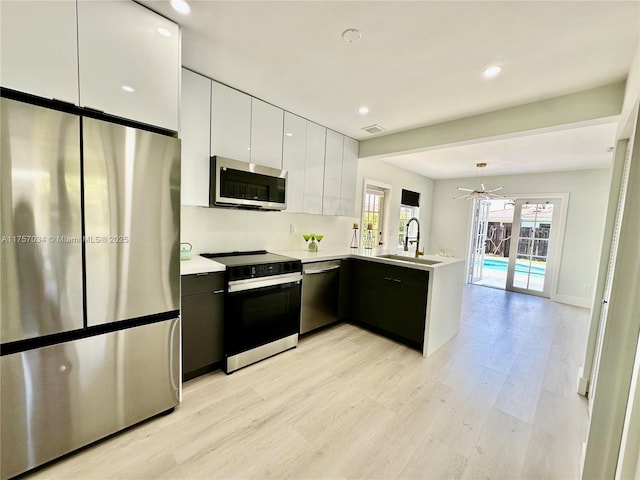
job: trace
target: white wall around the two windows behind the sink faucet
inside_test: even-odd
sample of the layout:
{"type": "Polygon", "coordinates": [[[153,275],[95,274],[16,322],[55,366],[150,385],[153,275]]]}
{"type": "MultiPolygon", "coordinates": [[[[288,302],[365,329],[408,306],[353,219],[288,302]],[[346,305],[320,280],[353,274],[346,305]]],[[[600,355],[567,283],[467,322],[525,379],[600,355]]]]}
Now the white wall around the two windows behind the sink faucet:
{"type": "MultiPolygon", "coordinates": [[[[433,203],[433,180],[413,172],[394,167],[379,159],[360,159],[358,161],[358,212],[362,210],[362,190],[364,181],[376,180],[389,185],[388,221],[384,226],[384,248],[395,249],[400,228],[400,199],[402,189],[420,192],[420,248],[428,249],[429,223],[433,203]]],[[[361,223],[361,222],[359,222],[361,223]]]]}

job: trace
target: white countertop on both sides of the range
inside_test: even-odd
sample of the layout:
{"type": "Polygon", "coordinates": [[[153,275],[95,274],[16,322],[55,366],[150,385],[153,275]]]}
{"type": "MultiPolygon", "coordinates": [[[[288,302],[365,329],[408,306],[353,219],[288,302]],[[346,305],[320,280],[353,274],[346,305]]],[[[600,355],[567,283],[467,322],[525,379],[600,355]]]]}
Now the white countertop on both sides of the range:
{"type": "MultiPolygon", "coordinates": [[[[308,250],[280,250],[272,253],[279,255],[285,255],[287,257],[296,258],[302,261],[302,263],[322,262],[325,260],[340,260],[343,258],[362,258],[365,260],[371,260],[378,263],[386,263],[388,265],[396,265],[399,267],[413,268],[416,270],[428,270],[434,271],[438,268],[452,263],[461,262],[461,258],[454,257],[442,257],[440,255],[421,255],[416,261],[412,252],[402,252],[395,250],[378,250],[378,249],[364,249],[364,248],[345,248],[340,250],[321,250],[319,252],[309,252],[308,250]],[[407,257],[406,260],[383,258],[382,255],[396,255],[400,257],[407,257]],[[420,260],[427,260],[437,262],[432,265],[420,263],[420,260]]],[[[201,257],[200,255],[194,255],[191,260],[180,261],[180,275],[193,275],[196,273],[207,272],[224,272],[226,267],[214,260],[201,257]]]]}

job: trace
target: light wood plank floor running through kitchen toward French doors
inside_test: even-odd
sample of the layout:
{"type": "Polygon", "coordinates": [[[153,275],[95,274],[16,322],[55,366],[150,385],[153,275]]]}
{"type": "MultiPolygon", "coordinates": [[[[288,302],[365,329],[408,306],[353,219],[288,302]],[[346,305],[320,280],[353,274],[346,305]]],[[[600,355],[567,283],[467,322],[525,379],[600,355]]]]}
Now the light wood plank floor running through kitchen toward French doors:
{"type": "Polygon", "coordinates": [[[587,310],[469,286],[462,317],[428,359],[337,325],[30,478],[578,478],[587,310]]]}

